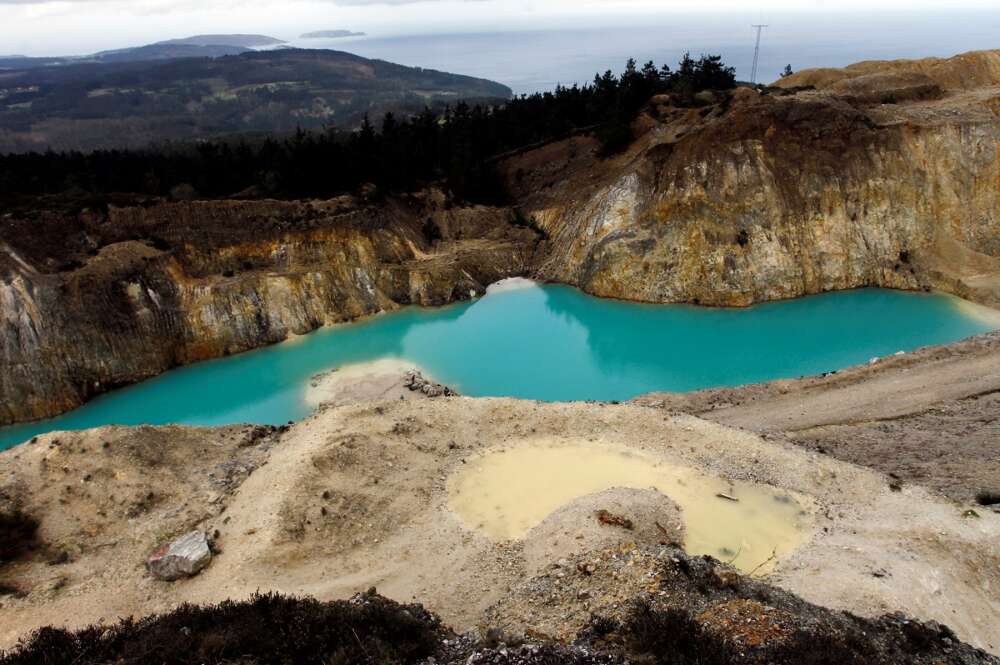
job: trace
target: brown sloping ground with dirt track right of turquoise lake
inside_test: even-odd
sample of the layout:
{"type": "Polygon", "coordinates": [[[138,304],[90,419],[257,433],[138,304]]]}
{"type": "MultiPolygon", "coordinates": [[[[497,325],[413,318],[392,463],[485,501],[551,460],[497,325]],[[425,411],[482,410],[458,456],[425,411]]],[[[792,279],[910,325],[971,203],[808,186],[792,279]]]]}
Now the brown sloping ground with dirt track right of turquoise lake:
{"type": "Polygon", "coordinates": [[[1000,491],[1000,333],[823,377],[637,402],[781,436],[956,501],[1000,491]]]}

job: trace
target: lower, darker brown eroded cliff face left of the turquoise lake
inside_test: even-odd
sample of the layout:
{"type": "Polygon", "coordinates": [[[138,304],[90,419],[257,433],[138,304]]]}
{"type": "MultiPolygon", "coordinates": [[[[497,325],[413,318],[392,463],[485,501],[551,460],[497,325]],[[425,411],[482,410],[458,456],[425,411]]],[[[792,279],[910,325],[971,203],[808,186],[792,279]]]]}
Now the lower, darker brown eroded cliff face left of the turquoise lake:
{"type": "Polygon", "coordinates": [[[323,325],[466,299],[527,270],[537,237],[509,211],[440,203],[161,203],[8,220],[0,424],[323,325]]]}

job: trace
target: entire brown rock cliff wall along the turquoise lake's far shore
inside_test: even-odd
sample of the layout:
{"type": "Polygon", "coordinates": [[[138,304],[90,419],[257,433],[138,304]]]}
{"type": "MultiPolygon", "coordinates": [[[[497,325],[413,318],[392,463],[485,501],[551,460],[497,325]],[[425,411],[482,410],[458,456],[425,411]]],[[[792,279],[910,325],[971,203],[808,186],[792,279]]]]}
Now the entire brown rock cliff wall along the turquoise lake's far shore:
{"type": "Polygon", "coordinates": [[[153,202],[0,219],[0,424],[510,275],[749,305],[861,286],[1000,304],[1000,52],[862,63],[700,106],[655,98],[603,158],[506,158],[512,209],[153,202]]]}

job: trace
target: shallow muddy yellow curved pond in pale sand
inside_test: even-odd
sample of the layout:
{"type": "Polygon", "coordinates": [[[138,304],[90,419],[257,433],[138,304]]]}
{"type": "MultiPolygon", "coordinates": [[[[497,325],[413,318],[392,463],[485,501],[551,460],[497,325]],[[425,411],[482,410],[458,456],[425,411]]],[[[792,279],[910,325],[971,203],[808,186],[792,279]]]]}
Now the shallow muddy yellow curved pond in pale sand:
{"type": "Polygon", "coordinates": [[[804,497],[588,442],[525,443],[470,459],[450,480],[449,502],[468,527],[516,540],[561,506],[612,487],[667,495],[681,509],[684,549],[743,571],[767,572],[812,532],[813,509],[804,497]]]}

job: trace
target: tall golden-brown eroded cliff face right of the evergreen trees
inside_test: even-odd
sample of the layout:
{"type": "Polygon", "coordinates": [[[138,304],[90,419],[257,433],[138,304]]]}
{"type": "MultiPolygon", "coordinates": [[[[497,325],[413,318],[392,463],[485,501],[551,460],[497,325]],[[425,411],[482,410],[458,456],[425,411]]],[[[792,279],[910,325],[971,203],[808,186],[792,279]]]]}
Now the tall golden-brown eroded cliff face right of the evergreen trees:
{"type": "Polygon", "coordinates": [[[663,97],[612,160],[580,138],[514,158],[525,214],[550,236],[537,274],[650,302],[883,286],[1000,304],[1000,88],[935,90],[875,105],[817,90],[741,89],[698,109],[663,97]]]}

